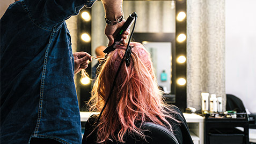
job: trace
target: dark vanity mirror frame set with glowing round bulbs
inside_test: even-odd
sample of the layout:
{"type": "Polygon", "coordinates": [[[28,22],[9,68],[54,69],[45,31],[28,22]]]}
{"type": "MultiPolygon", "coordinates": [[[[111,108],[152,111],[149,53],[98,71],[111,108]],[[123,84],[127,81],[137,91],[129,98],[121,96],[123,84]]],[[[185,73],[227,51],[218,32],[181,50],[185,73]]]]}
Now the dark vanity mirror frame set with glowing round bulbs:
{"type": "MultiPolygon", "coordinates": [[[[126,0],[124,0],[126,1],[126,0]]],[[[140,1],[146,1],[146,0],[140,0],[140,1]]],[[[157,0],[156,0],[157,1],[157,0]]],[[[170,1],[170,0],[165,0],[165,1],[170,1]]],[[[187,7],[186,7],[186,0],[176,0],[175,1],[175,15],[181,11],[186,13],[187,7]]],[[[91,15],[91,9],[83,9],[82,11],[87,11],[91,15]]],[[[91,42],[85,43],[81,39],[81,35],[84,31],[86,31],[87,34],[91,35],[91,27],[92,23],[91,21],[84,21],[81,18],[81,13],[78,15],[77,19],[77,28],[78,28],[78,33],[77,33],[77,51],[85,51],[87,53],[91,53],[91,42]]],[[[172,43],[172,84],[171,84],[171,94],[175,95],[175,102],[172,103],[173,105],[179,107],[182,112],[185,111],[186,106],[187,106],[187,83],[184,85],[178,85],[177,84],[177,79],[178,78],[185,78],[186,79],[186,73],[187,73],[187,62],[185,61],[184,63],[177,63],[177,58],[180,55],[186,55],[186,45],[187,42],[186,40],[179,43],[176,41],[177,37],[179,34],[185,34],[186,35],[186,24],[187,19],[185,18],[182,21],[177,21],[175,20],[175,34],[171,33],[172,35],[175,35],[172,43]]],[[[163,33],[164,34],[164,33],[163,33]]],[[[168,34],[168,33],[167,33],[168,34]]],[[[170,34],[170,33],[169,33],[170,34]]],[[[154,38],[155,39],[155,38],[154,38]]],[[[139,39],[135,39],[135,41],[140,42],[139,39]]],[[[147,40],[144,40],[147,41],[147,40]]],[[[150,40],[149,40],[150,41],[150,40]]],[[[151,42],[156,42],[156,41],[151,41],[151,42]]],[[[86,71],[91,71],[91,63],[89,63],[88,68],[86,71]]],[[[77,94],[78,94],[78,100],[79,100],[79,108],[81,111],[87,111],[88,108],[85,105],[85,102],[88,100],[88,96],[91,94],[91,87],[92,84],[89,85],[82,85],[79,83],[79,80],[81,79],[81,76],[78,74],[76,77],[76,86],[77,88],[77,94]],[[80,97],[80,95],[87,95],[85,97],[80,97]]]]}

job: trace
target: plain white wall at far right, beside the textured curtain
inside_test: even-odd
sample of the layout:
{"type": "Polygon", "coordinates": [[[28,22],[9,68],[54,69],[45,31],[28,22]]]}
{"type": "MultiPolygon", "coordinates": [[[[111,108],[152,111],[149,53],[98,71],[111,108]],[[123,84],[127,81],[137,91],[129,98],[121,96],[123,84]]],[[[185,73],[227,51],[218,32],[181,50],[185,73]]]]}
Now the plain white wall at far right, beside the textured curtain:
{"type": "Polygon", "coordinates": [[[226,0],[226,93],[256,113],[256,1],[226,0]]]}

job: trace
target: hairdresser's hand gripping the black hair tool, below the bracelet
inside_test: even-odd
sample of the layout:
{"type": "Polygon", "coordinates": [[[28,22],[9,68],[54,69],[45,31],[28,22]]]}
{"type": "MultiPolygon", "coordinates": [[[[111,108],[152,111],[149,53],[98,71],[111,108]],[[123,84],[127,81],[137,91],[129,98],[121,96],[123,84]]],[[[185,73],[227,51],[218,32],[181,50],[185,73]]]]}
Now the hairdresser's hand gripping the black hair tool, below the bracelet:
{"type": "MultiPolygon", "coordinates": [[[[105,28],[105,35],[107,36],[107,38],[109,39],[109,45],[112,45],[114,43],[114,37],[116,36],[116,34],[118,33],[119,29],[123,26],[123,24],[125,23],[125,20],[122,20],[122,22],[116,24],[116,25],[106,25],[105,28]]],[[[125,39],[128,38],[128,35],[130,34],[130,29],[126,30],[125,32],[123,32],[122,34],[122,44],[125,44],[126,41],[125,39]]]]}

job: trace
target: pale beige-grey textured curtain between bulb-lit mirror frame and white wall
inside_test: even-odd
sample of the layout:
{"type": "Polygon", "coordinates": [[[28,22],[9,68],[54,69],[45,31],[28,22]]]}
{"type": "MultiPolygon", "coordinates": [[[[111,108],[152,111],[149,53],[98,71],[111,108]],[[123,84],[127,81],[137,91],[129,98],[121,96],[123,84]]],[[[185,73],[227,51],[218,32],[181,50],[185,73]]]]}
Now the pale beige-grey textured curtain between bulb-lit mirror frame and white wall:
{"type": "Polygon", "coordinates": [[[201,92],[222,97],[225,111],[225,1],[187,1],[187,107],[201,109],[201,92]]]}

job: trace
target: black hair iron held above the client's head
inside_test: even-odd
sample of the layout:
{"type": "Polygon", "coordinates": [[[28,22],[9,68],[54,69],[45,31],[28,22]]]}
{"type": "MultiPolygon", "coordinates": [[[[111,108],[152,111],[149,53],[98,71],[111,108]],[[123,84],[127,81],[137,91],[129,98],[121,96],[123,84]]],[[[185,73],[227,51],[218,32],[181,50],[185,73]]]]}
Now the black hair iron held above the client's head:
{"type": "Polygon", "coordinates": [[[125,32],[127,29],[130,28],[131,24],[133,24],[135,18],[138,17],[136,12],[133,12],[129,15],[127,18],[126,22],[123,24],[122,28],[119,30],[118,34],[115,36],[114,43],[111,46],[108,46],[103,52],[104,53],[109,53],[111,51],[115,50],[115,46],[119,45],[122,41],[122,34],[125,32]]]}

